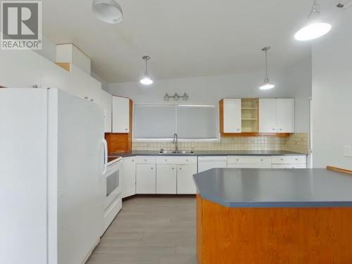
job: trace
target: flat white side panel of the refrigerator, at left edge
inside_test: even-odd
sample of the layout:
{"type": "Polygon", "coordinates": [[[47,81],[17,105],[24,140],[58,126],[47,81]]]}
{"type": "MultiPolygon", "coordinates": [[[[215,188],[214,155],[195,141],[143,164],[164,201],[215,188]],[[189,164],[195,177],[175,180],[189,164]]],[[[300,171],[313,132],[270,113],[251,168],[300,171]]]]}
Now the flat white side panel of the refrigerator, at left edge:
{"type": "Polygon", "coordinates": [[[47,263],[46,108],[46,89],[0,89],[0,263],[47,263]]]}

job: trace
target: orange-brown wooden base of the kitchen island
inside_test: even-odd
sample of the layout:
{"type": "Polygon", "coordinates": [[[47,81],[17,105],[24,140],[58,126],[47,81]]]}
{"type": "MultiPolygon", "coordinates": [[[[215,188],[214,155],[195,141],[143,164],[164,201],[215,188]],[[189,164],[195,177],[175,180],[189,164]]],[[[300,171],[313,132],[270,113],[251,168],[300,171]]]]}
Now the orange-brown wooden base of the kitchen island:
{"type": "Polygon", "coordinates": [[[227,208],[197,195],[199,264],[352,263],[352,208],[227,208]]]}

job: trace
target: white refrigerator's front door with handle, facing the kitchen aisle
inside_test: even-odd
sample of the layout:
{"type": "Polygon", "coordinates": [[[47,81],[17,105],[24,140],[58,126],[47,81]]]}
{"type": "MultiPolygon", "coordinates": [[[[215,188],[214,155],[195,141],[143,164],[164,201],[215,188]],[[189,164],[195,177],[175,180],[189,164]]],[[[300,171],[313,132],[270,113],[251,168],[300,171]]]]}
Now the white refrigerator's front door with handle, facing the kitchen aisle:
{"type": "MultiPolygon", "coordinates": [[[[77,264],[94,249],[103,228],[103,109],[61,90],[54,92],[58,92],[58,263],[77,264]]],[[[54,134],[49,136],[55,140],[54,134]]]]}

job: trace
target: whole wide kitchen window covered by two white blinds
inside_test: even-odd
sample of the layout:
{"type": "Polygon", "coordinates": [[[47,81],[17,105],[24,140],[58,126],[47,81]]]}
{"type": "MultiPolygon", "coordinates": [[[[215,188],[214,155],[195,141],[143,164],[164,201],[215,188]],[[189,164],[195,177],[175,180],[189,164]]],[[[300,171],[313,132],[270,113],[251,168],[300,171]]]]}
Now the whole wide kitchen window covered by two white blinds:
{"type": "Polygon", "coordinates": [[[134,140],[184,141],[219,139],[218,108],[200,105],[135,105],[134,140]]]}

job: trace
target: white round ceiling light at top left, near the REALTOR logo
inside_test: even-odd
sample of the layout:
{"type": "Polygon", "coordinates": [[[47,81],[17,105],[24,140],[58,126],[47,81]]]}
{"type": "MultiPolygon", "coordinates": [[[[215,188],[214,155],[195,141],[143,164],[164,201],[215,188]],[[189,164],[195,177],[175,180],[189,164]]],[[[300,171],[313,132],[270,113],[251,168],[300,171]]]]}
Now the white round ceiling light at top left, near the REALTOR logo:
{"type": "Polygon", "coordinates": [[[103,22],[116,24],[122,21],[122,9],[114,0],[93,0],[92,8],[103,22]]]}

